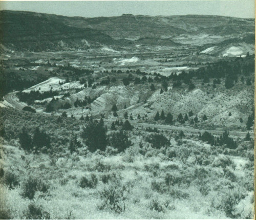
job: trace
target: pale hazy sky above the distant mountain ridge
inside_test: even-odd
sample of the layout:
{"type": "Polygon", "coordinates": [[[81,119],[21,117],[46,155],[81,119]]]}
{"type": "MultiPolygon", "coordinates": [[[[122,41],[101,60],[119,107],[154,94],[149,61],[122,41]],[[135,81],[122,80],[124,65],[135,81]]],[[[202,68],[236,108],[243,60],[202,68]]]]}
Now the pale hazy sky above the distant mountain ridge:
{"type": "Polygon", "coordinates": [[[254,0],[1,1],[0,8],[81,17],[202,14],[254,18],[254,0]]]}

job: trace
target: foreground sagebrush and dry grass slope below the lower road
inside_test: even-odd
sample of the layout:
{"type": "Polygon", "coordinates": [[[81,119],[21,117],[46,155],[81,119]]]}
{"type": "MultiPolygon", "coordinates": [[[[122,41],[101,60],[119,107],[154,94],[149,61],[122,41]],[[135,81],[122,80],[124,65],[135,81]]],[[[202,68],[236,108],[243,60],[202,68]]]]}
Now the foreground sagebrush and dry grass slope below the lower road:
{"type": "Polygon", "coordinates": [[[253,216],[248,135],[127,124],[115,124],[116,131],[103,120],[58,121],[8,108],[1,108],[1,118],[2,219],[253,216]],[[39,141],[44,146],[38,134],[46,136],[39,141]]]}

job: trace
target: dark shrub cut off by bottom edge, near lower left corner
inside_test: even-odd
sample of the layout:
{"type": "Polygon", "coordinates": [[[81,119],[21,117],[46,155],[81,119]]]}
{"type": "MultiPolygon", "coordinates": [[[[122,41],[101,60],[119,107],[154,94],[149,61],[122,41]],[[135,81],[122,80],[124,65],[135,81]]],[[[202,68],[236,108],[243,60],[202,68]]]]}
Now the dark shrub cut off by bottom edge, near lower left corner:
{"type": "Polygon", "coordinates": [[[26,219],[50,219],[50,214],[43,211],[40,206],[34,203],[29,204],[28,210],[25,212],[26,219]]]}

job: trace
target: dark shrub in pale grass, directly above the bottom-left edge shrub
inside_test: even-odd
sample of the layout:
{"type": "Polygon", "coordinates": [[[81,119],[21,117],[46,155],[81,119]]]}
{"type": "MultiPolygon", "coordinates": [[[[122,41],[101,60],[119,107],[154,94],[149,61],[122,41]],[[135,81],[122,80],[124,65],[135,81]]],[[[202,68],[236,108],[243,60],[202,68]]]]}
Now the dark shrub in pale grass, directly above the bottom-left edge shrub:
{"type": "Polygon", "coordinates": [[[32,200],[36,191],[40,191],[42,193],[46,193],[50,188],[50,185],[45,183],[42,180],[35,179],[33,177],[29,177],[23,185],[22,196],[28,197],[28,199],[32,200]]]}

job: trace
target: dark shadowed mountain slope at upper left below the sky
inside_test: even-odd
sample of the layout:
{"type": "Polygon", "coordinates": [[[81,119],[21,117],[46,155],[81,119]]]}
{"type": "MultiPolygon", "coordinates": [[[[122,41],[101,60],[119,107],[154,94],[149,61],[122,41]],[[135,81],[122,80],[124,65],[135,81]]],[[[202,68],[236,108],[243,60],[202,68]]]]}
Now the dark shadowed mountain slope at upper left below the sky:
{"type": "Polygon", "coordinates": [[[113,39],[91,28],[77,28],[63,24],[57,16],[29,12],[0,13],[0,41],[15,50],[59,50],[63,47],[79,48],[83,39],[107,45],[113,39]]]}

